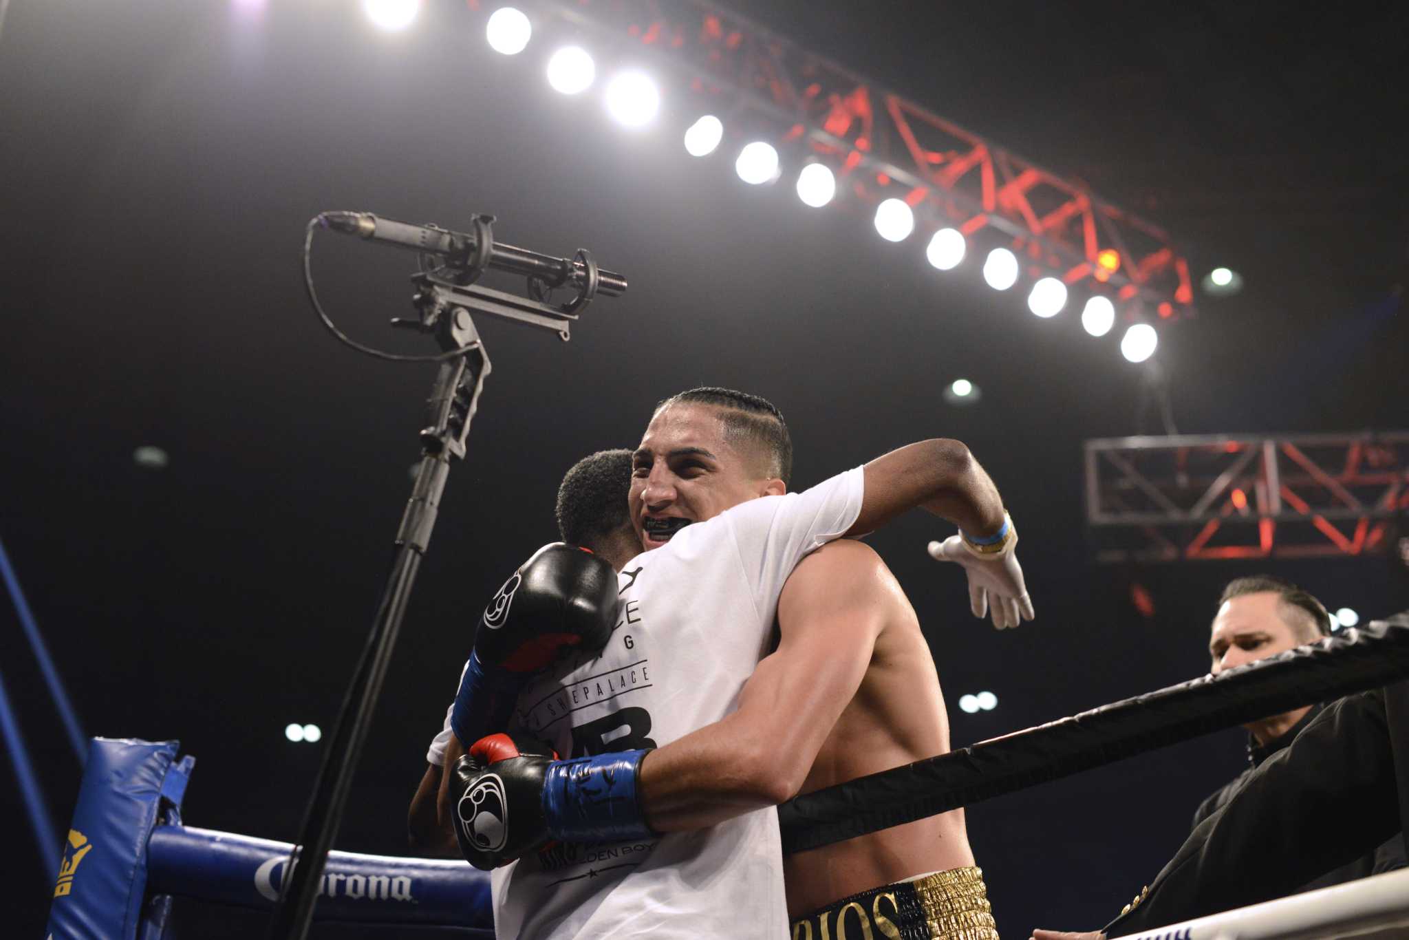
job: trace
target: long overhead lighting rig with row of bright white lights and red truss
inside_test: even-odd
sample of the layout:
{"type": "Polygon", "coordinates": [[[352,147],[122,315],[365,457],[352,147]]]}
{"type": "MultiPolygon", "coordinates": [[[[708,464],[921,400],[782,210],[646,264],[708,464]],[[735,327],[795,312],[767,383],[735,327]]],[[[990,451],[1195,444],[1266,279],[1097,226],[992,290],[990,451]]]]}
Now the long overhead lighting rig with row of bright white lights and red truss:
{"type": "Polygon", "coordinates": [[[612,75],[607,113],[645,127],[671,99],[690,156],[723,152],[745,183],[788,182],[806,206],[865,211],[882,238],[923,242],[938,271],[982,258],[985,282],[999,292],[1023,282],[1038,317],[1079,296],[1091,335],[1124,324],[1131,362],[1154,354],[1154,324],[1195,313],[1189,265],[1158,225],[707,0],[486,11],[499,52],[523,52],[535,31],[552,38],[540,47],[552,48],[547,78],[558,92],[593,87],[589,48],[674,75],[665,90],[643,72],[612,75]]]}

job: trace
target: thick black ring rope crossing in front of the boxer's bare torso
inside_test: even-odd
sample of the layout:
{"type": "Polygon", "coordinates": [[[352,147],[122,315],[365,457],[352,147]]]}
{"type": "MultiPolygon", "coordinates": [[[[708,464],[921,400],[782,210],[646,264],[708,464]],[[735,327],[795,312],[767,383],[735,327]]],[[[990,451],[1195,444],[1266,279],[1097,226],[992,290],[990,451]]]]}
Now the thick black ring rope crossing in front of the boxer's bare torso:
{"type": "Polygon", "coordinates": [[[1409,626],[1320,643],[803,793],[778,808],[783,853],[806,851],[1112,764],[1409,675],[1409,626]]]}

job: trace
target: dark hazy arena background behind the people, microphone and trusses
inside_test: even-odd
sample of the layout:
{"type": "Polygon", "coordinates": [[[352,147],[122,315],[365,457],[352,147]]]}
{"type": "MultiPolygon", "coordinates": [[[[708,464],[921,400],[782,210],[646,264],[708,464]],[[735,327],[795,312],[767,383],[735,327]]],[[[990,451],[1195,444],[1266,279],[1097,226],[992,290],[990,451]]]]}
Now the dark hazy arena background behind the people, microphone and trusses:
{"type": "MultiPolygon", "coordinates": [[[[293,837],[317,748],[283,726],[331,724],[409,492],[430,373],[318,328],[297,261],[304,221],[327,209],[445,225],[492,211],[504,241],[586,245],[631,280],[566,345],[482,324],[495,372],[342,847],[403,850],[478,610],[552,538],[562,471],[634,444],[651,404],[693,385],[775,400],[802,485],[934,435],[991,469],[1022,524],[1037,623],[996,633],[968,616],[961,581],[923,552],[944,524],[914,516],[875,538],[951,706],[999,696],[993,712],[951,707],[955,743],[1206,669],[1212,600],[1251,568],[1086,557],[1081,441],[1160,430],[1137,424],[1146,369],[1113,338],[1031,317],[971,266],[941,276],[862,217],[745,187],[727,159],[689,159],[669,90],[657,130],[607,124],[595,101],[545,87],[541,48],[488,52],[483,13],[462,3],[423,4],[397,35],[351,1],[272,0],[255,20],[247,6],[14,0],[0,32],[0,537],[85,729],[180,738],[199,757],[189,822],[293,837]],[[979,406],[944,404],[961,375],[979,406]],[[169,465],[135,465],[139,445],[169,465]],[[1130,605],[1133,581],[1153,617],[1130,605]]],[[[1199,297],[1198,319],[1164,331],[1157,359],[1186,433],[1409,424],[1405,10],[743,7],[1161,223],[1198,273],[1243,273],[1241,295],[1199,297]]],[[[426,351],[385,328],[410,313],[410,256],[325,237],[314,268],[351,333],[426,351]]],[[[1409,605],[1386,559],[1278,571],[1332,606],[1409,605]]],[[[7,607],[0,644],[62,826],[76,765],[7,607]]],[[[974,808],[1005,934],[1109,919],[1240,753],[1229,731],[974,808]]],[[[0,800],[13,916],[37,936],[49,888],[8,777],[0,800]]]]}

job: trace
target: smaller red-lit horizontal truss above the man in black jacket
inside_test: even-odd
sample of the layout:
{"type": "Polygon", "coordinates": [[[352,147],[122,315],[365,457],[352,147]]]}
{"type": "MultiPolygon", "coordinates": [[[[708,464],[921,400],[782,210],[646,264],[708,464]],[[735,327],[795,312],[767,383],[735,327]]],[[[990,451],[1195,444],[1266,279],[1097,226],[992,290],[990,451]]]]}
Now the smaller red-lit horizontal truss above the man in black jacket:
{"type": "Polygon", "coordinates": [[[1086,441],[1096,559],[1391,551],[1409,510],[1409,431],[1086,441]]]}

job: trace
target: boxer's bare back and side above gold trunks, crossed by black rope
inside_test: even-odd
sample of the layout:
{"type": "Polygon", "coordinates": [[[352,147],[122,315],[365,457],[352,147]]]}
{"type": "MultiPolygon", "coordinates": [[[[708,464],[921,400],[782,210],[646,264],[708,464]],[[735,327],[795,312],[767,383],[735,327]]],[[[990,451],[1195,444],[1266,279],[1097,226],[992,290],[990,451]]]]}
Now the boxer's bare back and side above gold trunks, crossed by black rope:
{"type": "MultiPolygon", "coordinates": [[[[940,681],[914,609],[875,552],[867,551],[859,564],[878,569],[872,581],[883,585],[875,603],[883,605],[885,626],[803,793],[950,750],[940,681]]],[[[964,810],[952,810],[785,857],[788,912],[797,916],[878,885],[972,864],[964,810]]]]}

